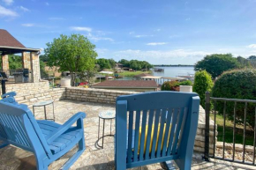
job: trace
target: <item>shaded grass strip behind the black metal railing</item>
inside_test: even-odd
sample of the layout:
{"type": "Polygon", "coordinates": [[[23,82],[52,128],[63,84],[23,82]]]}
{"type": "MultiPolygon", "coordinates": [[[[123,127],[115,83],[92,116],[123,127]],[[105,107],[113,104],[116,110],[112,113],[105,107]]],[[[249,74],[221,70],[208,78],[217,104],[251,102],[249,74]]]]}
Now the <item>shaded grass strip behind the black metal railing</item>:
{"type": "MultiPolygon", "coordinates": [[[[212,120],[215,120],[215,115],[211,114],[210,117],[212,120]]],[[[224,118],[222,115],[216,115],[216,124],[218,125],[218,141],[223,141],[223,122],[224,118]]],[[[234,123],[226,119],[226,126],[225,126],[225,142],[226,143],[233,143],[233,126],[234,123]]],[[[244,140],[244,126],[236,125],[236,144],[243,144],[244,140]]],[[[245,135],[245,144],[246,145],[253,145],[253,130],[246,128],[246,135],[245,135]]]]}

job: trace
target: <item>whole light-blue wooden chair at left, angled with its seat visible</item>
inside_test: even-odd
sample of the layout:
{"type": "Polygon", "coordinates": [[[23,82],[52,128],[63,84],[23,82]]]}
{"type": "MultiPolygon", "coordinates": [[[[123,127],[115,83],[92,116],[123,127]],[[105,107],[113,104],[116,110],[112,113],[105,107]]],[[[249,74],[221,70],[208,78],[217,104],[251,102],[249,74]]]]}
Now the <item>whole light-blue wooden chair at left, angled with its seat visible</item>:
{"type": "MultiPolygon", "coordinates": [[[[12,93],[13,94],[13,93],[12,93]]],[[[37,169],[48,169],[56,159],[72,150],[79,150],[61,169],[68,169],[85,151],[83,119],[85,113],[73,115],[63,125],[50,121],[37,121],[26,105],[19,105],[11,95],[0,100],[0,148],[8,144],[33,152],[37,169]],[[7,100],[8,98],[12,98],[7,100]],[[14,101],[14,102],[13,102],[14,101]],[[72,126],[77,122],[76,126],[72,126]]]]}

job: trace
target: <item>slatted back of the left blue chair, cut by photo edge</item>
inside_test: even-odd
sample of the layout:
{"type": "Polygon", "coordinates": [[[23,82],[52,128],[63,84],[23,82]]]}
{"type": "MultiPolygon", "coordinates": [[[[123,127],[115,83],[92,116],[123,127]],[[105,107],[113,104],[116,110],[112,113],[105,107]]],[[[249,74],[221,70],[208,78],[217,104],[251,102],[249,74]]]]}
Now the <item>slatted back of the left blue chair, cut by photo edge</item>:
{"type": "Polygon", "coordinates": [[[41,129],[25,105],[0,100],[0,139],[30,152],[41,147],[51,155],[41,129]]]}

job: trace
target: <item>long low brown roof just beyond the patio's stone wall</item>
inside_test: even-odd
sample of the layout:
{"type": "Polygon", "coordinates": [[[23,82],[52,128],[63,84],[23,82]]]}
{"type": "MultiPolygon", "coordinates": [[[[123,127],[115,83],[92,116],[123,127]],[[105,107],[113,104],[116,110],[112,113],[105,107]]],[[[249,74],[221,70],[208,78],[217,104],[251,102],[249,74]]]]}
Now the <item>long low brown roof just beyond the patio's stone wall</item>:
{"type": "Polygon", "coordinates": [[[154,80],[106,80],[93,87],[156,88],[154,80]]]}

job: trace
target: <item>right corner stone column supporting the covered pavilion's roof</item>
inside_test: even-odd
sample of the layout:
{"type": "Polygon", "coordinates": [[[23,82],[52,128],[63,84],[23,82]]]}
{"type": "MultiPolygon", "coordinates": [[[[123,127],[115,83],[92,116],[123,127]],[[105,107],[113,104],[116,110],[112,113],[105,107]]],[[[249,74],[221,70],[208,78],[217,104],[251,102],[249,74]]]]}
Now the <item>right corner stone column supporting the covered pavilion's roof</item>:
{"type": "Polygon", "coordinates": [[[37,83],[40,79],[39,55],[37,52],[30,52],[30,65],[32,82],[37,83]]]}

